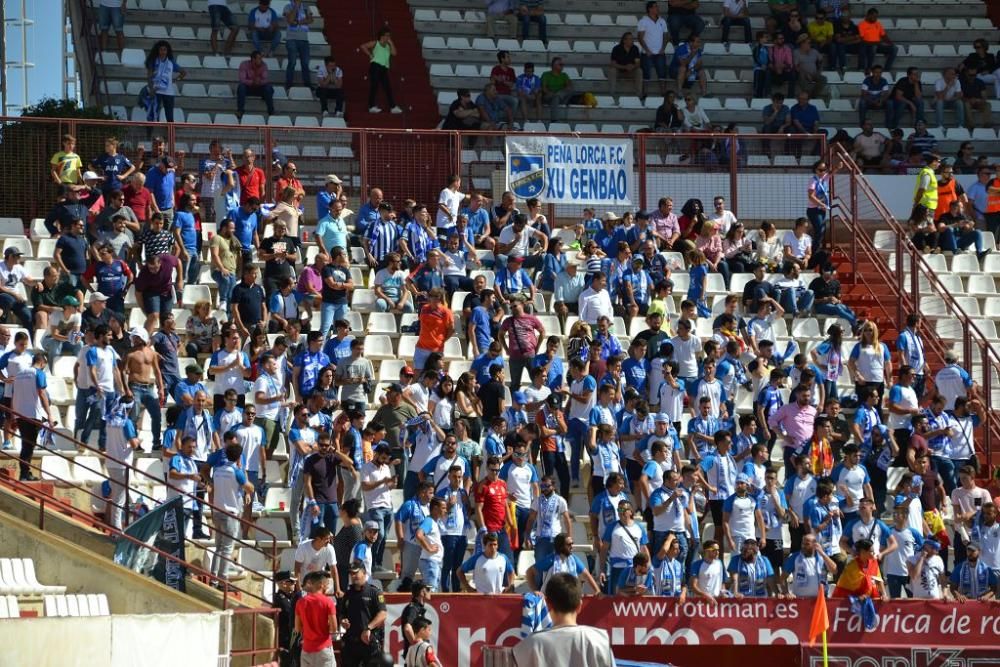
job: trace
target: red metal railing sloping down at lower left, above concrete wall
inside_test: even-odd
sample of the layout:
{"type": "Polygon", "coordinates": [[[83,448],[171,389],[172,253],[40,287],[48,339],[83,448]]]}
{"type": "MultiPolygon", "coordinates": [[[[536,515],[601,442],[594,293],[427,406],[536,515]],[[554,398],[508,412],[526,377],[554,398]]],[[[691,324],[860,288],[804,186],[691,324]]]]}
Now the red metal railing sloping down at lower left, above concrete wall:
{"type": "MultiPolygon", "coordinates": [[[[10,410],[7,407],[0,406],[0,410],[2,410],[3,412],[5,412],[7,414],[7,418],[8,419],[16,418],[18,422],[22,422],[22,423],[23,422],[29,422],[29,423],[35,424],[40,429],[39,432],[43,432],[43,431],[41,431],[41,429],[48,428],[47,424],[44,424],[44,423],[42,423],[42,422],[40,422],[38,420],[35,420],[35,419],[28,419],[26,417],[23,417],[23,416],[17,414],[16,412],[10,410]]],[[[72,486],[74,488],[80,488],[81,490],[83,490],[86,494],[88,494],[92,498],[95,498],[95,499],[97,499],[97,500],[99,500],[101,502],[104,502],[107,505],[112,505],[112,506],[119,507],[119,509],[122,510],[122,516],[123,516],[123,522],[124,522],[123,525],[126,526],[126,527],[128,526],[128,521],[129,521],[129,518],[130,518],[130,515],[131,515],[131,507],[129,505],[129,497],[130,496],[131,497],[145,498],[145,499],[147,499],[149,501],[149,504],[151,506],[155,506],[157,504],[157,502],[158,502],[152,495],[146,493],[142,489],[132,488],[132,484],[135,483],[135,481],[137,479],[146,480],[146,483],[150,483],[151,482],[151,483],[156,484],[156,485],[161,485],[162,484],[163,486],[165,486],[167,489],[171,490],[176,495],[185,497],[185,498],[190,499],[190,500],[194,500],[195,502],[198,502],[200,505],[205,505],[205,506],[211,508],[213,516],[221,515],[221,516],[226,516],[226,517],[228,517],[230,519],[236,519],[236,521],[238,522],[238,525],[239,525],[239,530],[237,531],[237,533],[238,533],[237,535],[230,535],[230,534],[225,533],[225,532],[220,532],[220,534],[221,535],[225,535],[226,537],[229,537],[229,538],[233,539],[233,541],[235,543],[234,546],[236,548],[247,549],[249,551],[254,551],[254,552],[259,553],[265,559],[265,562],[270,562],[271,563],[271,571],[270,572],[257,572],[255,570],[252,570],[252,569],[249,569],[249,568],[246,568],[246,567],[240,565],[240,563],[238,563],[235,559],[233,559],[231,557],[223,556],[223,555],[218,554],[218,553],[216,553],[216,555],[219,558],[221,558],[222,560],[224,560],[227,563],[229,563],[230,565],[236,565],[238,568],[242,568],[242,569],[246,570],[250,574],[259,576],[259,577],[261,577],[261,578],[263,578],[265,580],[266,579],[270,579],[271,582],[272,582],[272,584],[274,583],[274,572],[277,570],[277,567],[278,567],[278,554],[277,554],[277,538],[276,538],[276,536],[273,533],[271,533],[271,532],[269,532],[269,531],[267,531],[267,530],[265,530],[263,528],[258,528],[252,521],[247,521],[243,517],[235,515],[235,514],[233,514],[231,512],[228,512],[225,509],[223,509],[222,507],[218,507],[216,505],[213,505],[212,503],[208,502],[207,500],[200,500],[200,499],[198,499],[198,497],[195,494],[187,493],[187,492],[181,490],[177,486],[174,486],[173,484],[170,483],[169,477],[167,477],[166,479],[160,479],[158,477],[155,477],[154,475],[150,475],[147,472],[139,470],[138,468],[134,467],[133,465],[127,464],[125,461],[121,461],[119,459],[116,459],[115,457],[107,454],[106,452],[102,452],[99,449],[95,449],[93,447],[90,447],[88,444],[80,442],[79,440],[76,440],[76,439],[73,439],[73,438],[69,438],[69,437],[61,435],[61,434],[59,435],[59,437],[63,438],[63,439],[66,439],[66,440],[69,440],[78,449],[82,449],[82,450],[87,451],[89,454],[92,454],[94,457],[96,457],[99,461],[104,461],[105,465],[108,462],[110,462],[110,463],[113,463],[113,464],[115,464],[117,466],[120,466],[120,467],[124,468],[124,470],[125,470],[124,486],[125,486],[125,489],[126,489],[124,505],[117,506],[117,505],[115,505],[113,503],[113,501],[112,501],[111,498],[104,498],[103,496],[101,496],[98,493],[96,493],[93,489],[91,489],[89,485],[86,485],[86,484],[81,485],[80,483],[78,483],[76,481],[68,480],[68,479],[63,479],[63,478],[59,477],[58,475],[56,475],[55,473],[53,473],[50,470],[43,471],[40,465],[37,465],[37,464],[29,461],[28,465],[31,467],[31,469],[38,471],[37,474],[36,474],[37,477],[39,477],[40,479],[44,479],[44,478],[53,479],[53,480],[55,480],[56,482],[58,482],[60,484],[65,484],[65,485],[68,485],[68,486],[72,486]],[[218,513],[218,514],[216,514],[216,513],[218,513]],[[262,535],[263,537],[265,537],[266,540],[270,542],[270,548],[265,551],[264,549],[261,549],[260,547],[258,547],[256,544],[251,543],[251,542],[247,542],[246,540],[244,540],[240,536],[240,534],[246,534],[248,531],[253,531],[255,535],[259,534],[259,535],[262,535]]],[[[46,456],[58,456],[58,457],[62,458],[63,460],[67,461],[69,463],[69,465],[71,465],[71,466],[78,466],[79,468],[82,468],[83,470],[85,470],[87,472],[93,473],[96,477],[98,477],[101,480],[102,484],[103,484],[104,481],[108,481],[112,485],[112,488],[114,488],[117,485],[117,482],[112,481],[110,479],[110,477],[108,477],[107,475],[105,475],[103,466],[99,466],[99,467],[97,467],[97,469],[94,469],[93,467],[88,466],[85,463],[80,463],[80,462],[76,461],[76,457],[75,456],[69,456],[64,451],[60,451],[58,449],[47,449],[46,451],[47,451],[46,456]]],[[[14,460],[20,461],[20,459],[18,459],[17,456],[14,455],[13,452],[3,451],[3,452],[0,452],[0,456],[2,456],[3,458],[9,458],[9,459],[14,459],[14,460]]],[[[19,490],[23,489],[23,488],[24,488],[24,485],[20,485],[18,487],[19,490]]],[[[200,511],[200,510],[198,510],[198,511],[200,511]]],[[[87,521],[99,525],[102,530],[104,530],[105,532],[111,533],[111,534],[118,534],[118,533],[121,532],[121,531],[117,530],[114,526],[110,525],[106,521],[106,519],[101,519],[101,518],[99,518],[99,517],[97,517],[96,515],[93,515],[93,514],[88,514],[87,515],[87,521]]],[[[215,531],[219,530],[218,526],[213,526],[212,529],[215,530],[215,531]]],[[[193,546],[201,548],[200,544],[198,544],[196,541],[194,541],[194,540],[192,540],[192,539],[190,539],[190,538],[188,538],[186,536],[184,537],[184,541],[186,543],[189,543],[189,544],[193,545],[193,546]]],[[[217,578],[213,577],[213,580],[215,580],[215,579],[217,579],[217,578]]],[[[243,590],[243,589],[240,589],[237,586],[234,586],[234,585],[228,584],[228,583],[227,583],[227,587],[228,588],[232,588],[232,589],[234,589],[236,591],[239,591],[240,593],[242,593],[244,595],[247,595],[249,597],[255,598],[255,599],[259,600],[262,603],[267,603],[267,600],[265,600],[261,596],[257,595],[256,593],[253,593],[250,590],[243,590]]]]}

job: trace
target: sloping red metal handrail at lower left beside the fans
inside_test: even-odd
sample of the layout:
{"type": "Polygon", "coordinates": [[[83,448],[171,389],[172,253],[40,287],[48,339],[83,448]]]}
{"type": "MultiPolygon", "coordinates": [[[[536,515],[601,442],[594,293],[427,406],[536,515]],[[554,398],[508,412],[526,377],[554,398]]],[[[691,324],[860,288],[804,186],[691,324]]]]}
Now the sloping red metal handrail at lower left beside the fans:
{"type": "MultiPolygon", "coordinates": [[[[19,422],[29,422],[29,423],[34,424],[39,429],[39,433],[42,432],[42,429],[48,430],[50,428],[47,423],[43,423],[43,422],[41,422],[41,421],[39,421],[37,419],[32,419],[32,418],[24,417],[24,416],[18,414],[17,412],[14,412],[13,410],[11,410],[10,408],[8,408],[6,406],[0,405],[0,411],[2,411],[3,413],[6,413],[8,419],[16,419],[19,422]]],[[[129,465],[125,461],[123,461],[121,459],[117,459],[117,458],[111,456],[107,452],[101,451],[100,449],[95,449],[95,448],[91,447],[90,445],[77,440],[75,437],[68,437],[68,436],[65,436],[65,435],[62,435],[62,434],[60,434],[59,437],[64,438],[64,439],[69,440],[70,442],[74,443],[74,445],[76,445],[76,447],[78,449],[87,450],[88,452],[90,452],[91,454],[93,454],[98,459],[103,460],[105,462],[105,464],[107,462],[111,462],[111,463],[114,463],[117,466],[120,466],[120,467],[122,467],[122,468],[125,469],[125,471],[126,471],[125,472],[125,482],[124,482],[124,486],[125,486],[125,489],[126,489],[126,492],[125,492],[125,507],[123,507],[122,509],[123,509],[123,512],[124,512],[123,520],[125,521],[125,525],[126,526],[128,525],[128,518],[130,516],[129,515],[130,509],[128,507],[128,498],[129,498],[130,494],[134,493],[137,496],[140,496],[140,497],[143,497],[143,498],[148,498],[148,499],[152,500],[153,502],[158,502],[158,501],[156,501],[156,499],[153,496],[151,496],[151,495],[149,495],[149,494],[147,494],[147,493],[145,493],[145,492],[143,492],[141,490],[132,489],[130,487],[129,477],[132,476],[132,475],[135,475],[136,477],[142,477],[144,479],[151,480],[153,484],[162,484],[167,489],[170,489],[173,493],[175,493],[178,496],[182,496],[182,497],[184,497],[184,498],[186,498],[188,500],[193,500],[193,501],[195,501],[195,502],[197,502],[199,504],[206,505],[207,507],[211,508],[213,516],[215,516],[216,512],[217,512],[219,515],[224,515],[224,516],[226,516],[226,517],[228,517],[230,519],[236,519],[237,522],[239,523],[239,526],[240,526],[241,529],[243,529],[243,530],[250,529],[250,530],[253,530],[255,534],[261,533],[261,534],[264,535],[264,537],[270,538],[271,544],[270,544],[270,548],[268,550],[268,551],[270,551],[270,553],[268,553],[268,551],[265,551],[264,549],[261,549],[256,544],[250,543],[250,542],[247,542],[247,541],[243,540],[239,535],[229,535],[228,533],[225,533],[225,532],[222,533],[223,535],[226,535],[227,537],[232,538],[234,540],[234,542],[236,544],[238,544],[241,548],[249,549],[251,551],[256,551],[256,552],[260,553],[262,556],[264,556],[264,558],[269,559],[269,561],[271,562],[271,566],[272,566],[270,574],[271,574],[271,578],[273,579],[274,572],[277,570],[277,563],[278,563],[278,553],[277,553],[278,540],[277,540],[277,536],[274,533],[271,533],[270,531],[268,531],[268,530],[266,530],[264,528],[258,528],[252,521],[247,521],[242,516],[233,514],[232,512],[228,512],[224,508],[219,507],[217,505],[214,505],[214,504],[208,502],[207,500],[199,499],[196,494],[188,493],[188,492],[180,489],[179,487],[177,487],[177,486],[175,486],[175,485],[173,485],[173,484],[170,483],[170,481],[169,481],[169,475],[167,476],[166,480],[161,480],[160,478],[155,477],[153,475],[150,475],[149,473],[147,473],[147,472],[145,472],[143,470],[139,470],[134,465],[129,465]]],[[[49,454],[48,454],[49,456],[53,456],[53,455],[54,456],[59,456],[59,457],[61,457],[62,459],[66,460],[67,462],[69,462],[72,465],[79,466],[80,468],[82,468],[84,470],[87,470],[89,472],[94,473],[95,475],[97,475],[98,477],[100,477],[102,479],[102,481],[108,481],[108,482],[110,482],[112,484],[116,484],[116,482],[112,482],[110,480],[110,478],[107,475],[104,474],[104,471],[102,469],[94,470],[94,469],[90,468],[89,466],[87,466],[85,464],[78,463],[76,461],[76,457],[75,456],[68,456],[65,452],[59,451],[57,449],[48,449],[46,451],[49,452],[49,454]]],[[[8,458],[15,458],[15,459],[17,458],[16,456],[14,456],[12,454],[8,454],[7,452],[0,452],[0,455],[8,457],[8,458]]],[[[41,467],[40,466],[35,466],[34,463],[32,463],[30,461],[28,462],[28,465],[29,465],[29,467],[32,467],[33,469],[37,468],[37,470],[39,471],[39,473],[41,473],[41,467]]],[[[60,479],[59,477],[57,477],[56,475],[52,474],[49,471],[45,471],[44,475],[48,476],[48,477],[51,477],[53,479],[56,479],[57,481],[60,481],[60,482],[62,482],[64,484],[68,484],[70,486],[77,487],[77,488],[80,487],[80,485],[77,484],[76,482],[73,482],[73,481],[70,481],[70,480],[60,479]]],[[[42,477],[42,475],[39,474],[39,477],[42,477]]],[[[135,481],[134,477],[133,477],[132,481],[135,481]]],[[[97,494],[93,493],[89,488],[88,489],[84,489],[84,491],[86,493],[90,494],[91,496],[98,497],[101,500],[105,500],[103,497],[97,496],[97,494]]],[[[111,501],[110,501],[110,499],[108,499],[105,502],[110,503],[111,501]]],[[[108,525],[107,522],[102,522],[102,527],[104,529],[106,529],[106,530],[111,530],[111,531],[115,530],[114,527],[108,525]]],[[[213,530],[218,530],[218,528],[217,527],[213,527],[213,530]]],[[[185,537],[185,541],[188,541],[188,542],[191,542],[192,544],[197,545],[197,542],[195,542],[194,540],[189,540],[187,537],[185,537]]],[[[226,560],[226,561],[228,561],[230,563],[234,563],[234,564],[242,567],[239,563],[237,563],[235,560],[233,560],[231,558],[228,558],[226,556],[222,556],[221,554],[220,554],[220,558],[223,558],[224,560],[226,560]]],[[[244,569],[246,569],[246,568],[244,568],[244,569]]],[[[258,573],[258,572],[254,572],[254,573],[255,574],[261,574],[261,576],[264,576],[262,573],[258,573]]],[[[265,576],[264,578],[267,578],[267,577],[265,576]]]]}

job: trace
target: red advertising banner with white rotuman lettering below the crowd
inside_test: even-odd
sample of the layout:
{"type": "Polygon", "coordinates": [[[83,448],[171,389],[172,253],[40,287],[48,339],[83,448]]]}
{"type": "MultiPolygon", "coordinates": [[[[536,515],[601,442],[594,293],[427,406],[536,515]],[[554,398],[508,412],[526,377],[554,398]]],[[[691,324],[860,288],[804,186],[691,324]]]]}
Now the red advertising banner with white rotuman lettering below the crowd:
{"type": "MultiPolygon", "coordinates": [[[[408,596],[387,596],[387,640],[401,651],[399,616],[408,596]]],[[[866,632],[846,600],[828,600],[831,644],[920,645],[997,648],[1000,603],[893,600],[876,603],[878,627],[866,632]]],[[[445,665],[478,667],[486,645],[513,646],[521,638],[519,596],[436,595],[428,618],[445,665]]],[[[613,645],[805,644],[813,601],[723,599],[684,604],[662,597],[586,598],[579,622],[602,628],[613,645]]],[[[667,656],[669,658],[669,656],[667,656]]]]}

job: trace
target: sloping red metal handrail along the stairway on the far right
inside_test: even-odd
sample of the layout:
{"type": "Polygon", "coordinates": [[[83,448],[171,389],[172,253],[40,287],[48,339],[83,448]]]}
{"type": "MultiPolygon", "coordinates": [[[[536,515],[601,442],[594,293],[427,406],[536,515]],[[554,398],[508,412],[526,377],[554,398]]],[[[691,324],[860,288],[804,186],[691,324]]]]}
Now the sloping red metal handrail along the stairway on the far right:
{"type": "MultiPolygon", "coordinates": [[[[874,206],[876,213],[881,218],[880,222],[885,224],[886,227],[895,233],[896,236],[896,270],[889,271],[888,276],[885,275],[885,268],[889,268],[888,264],[882,260],[879,250],[875,247],[874,242],[868,238],[867,234],[862,233],[860,225],[854,224],[854,240],[857,246],[862,246],[865,252],[869,255],[874,256],[877,260],[874,262],[875,266],[878,267],[879,271],[883,273],[883,277],[888,277],[886,284],[893,288],[897,296],[897,309],[902,311],[904,306],[909,306],[912,312],[919,312],[920,309],[920,277],[922,276],[928,282],[931,290],[941,298],[942,302],[948,308],[948,310],[955,316],[955,318],[961,322],[964,331],[964,338],[962,340],[962,347],[964,353],[965,365],[971,370],[972,366],[972,346],[975,344],[980,349],[982,355],[982,366],[983,366],[983,378],[984,378],[984,391],[983,394],[983,406],[985,408],[985,424],[983,424],[983,442],[982,450],[986,458],[987,467],[992,465],[992,440],[994,437],[1000,437],[1000,415],[997,415],[994,411],[992,391],[990,390],[991,384],[991,371],[996,370],[1000,374],[1000,353],[993,347],[989,342],[989,339],[983,334],[983,332],[976,326],[975,322],[969,317],[968,313],[958,304],[951,293],[944,287],[944,285],[939,280],[935,271],[930,267],[930,264],[923,258],[922,253],[917,249],[910,239],[909,234],[903,228],[903,226],[896,220],[895,216],[889,212],[888,209],[882,204],[878,195],[875,193],[874,188],[868,183],[867,179],[864,177],[860,167],[854,162],[850,155],[839,145],[833,145],[830,148],[830,162],[836,164],[837,167],[846,169],[851,176],[852,186],[861,189],[864,194],[871,201],[874,206]],[[908,254],[910,256],[911,270],[910,270],[910,289],[907,290],[905,285],[906,272],[903,267],[903,256],[908,254]]],[[[851,212],[856,214],[856,207],[851,209],[851,212]]],[[[853,259],[856,259],[853,258],[853,259]]],[[[945,351],[945,345],[942,344],[937,336],[937,332],[932,330],[925,321],[923,327],[923,338],[926,342],[931,343],[934,351],[939,354],[943,354],[945,351]]]]}

